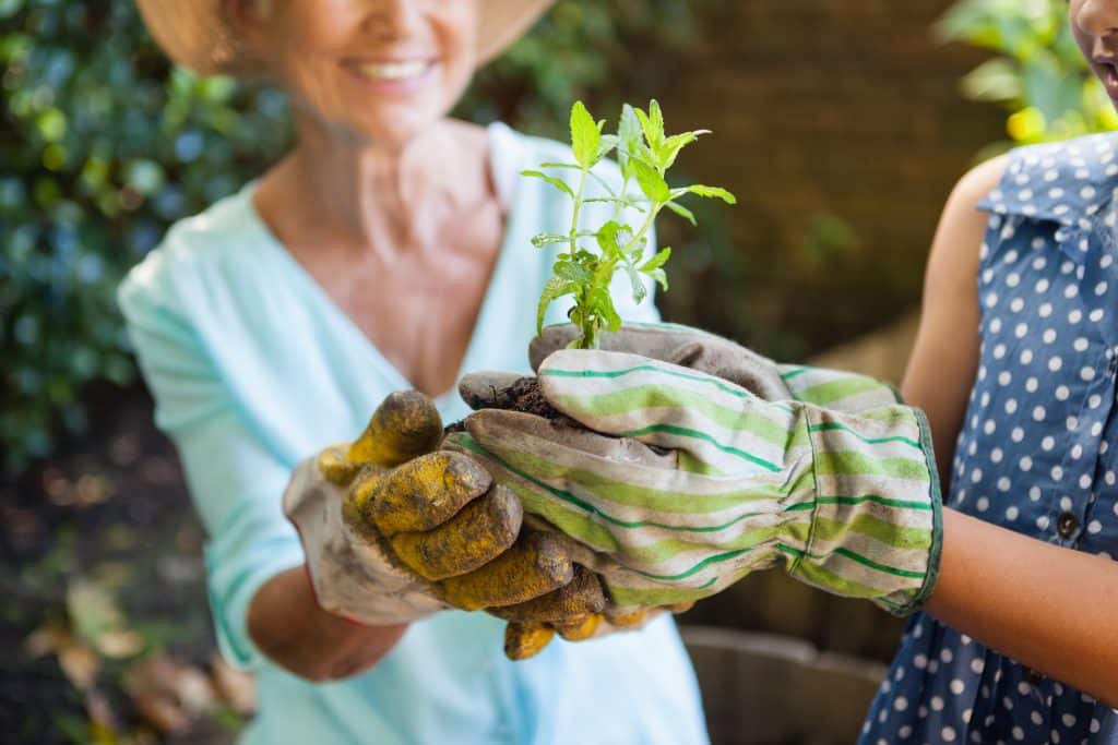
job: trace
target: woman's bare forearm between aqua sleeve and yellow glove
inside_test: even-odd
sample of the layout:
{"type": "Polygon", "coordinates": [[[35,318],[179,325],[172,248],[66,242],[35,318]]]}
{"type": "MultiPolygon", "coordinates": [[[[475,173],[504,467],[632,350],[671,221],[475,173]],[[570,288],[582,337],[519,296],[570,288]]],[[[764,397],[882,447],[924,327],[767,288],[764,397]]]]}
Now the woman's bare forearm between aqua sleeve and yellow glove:
{"type": "Polygon", "coordinates": [[[281,572],[248,608],[248,633],[276,665],[301,678],[338,680],[381,660],[408,625],[367,627],[319,606],[303,566],[281,572]]]}

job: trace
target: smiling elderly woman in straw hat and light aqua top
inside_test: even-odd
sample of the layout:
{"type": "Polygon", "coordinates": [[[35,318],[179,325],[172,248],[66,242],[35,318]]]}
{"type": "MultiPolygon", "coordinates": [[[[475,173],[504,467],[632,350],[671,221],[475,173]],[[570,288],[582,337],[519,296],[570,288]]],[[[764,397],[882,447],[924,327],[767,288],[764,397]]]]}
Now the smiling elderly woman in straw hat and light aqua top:
{"type": "Polygon", "coordinates": [[[281,86],[297,133],[259,180],[174,226],[120,292],[209,534],[221,649],[257,672],[245,742],[705,741],[666,614],[511,662],[500,620],[426,596],[423,612],[394,611],[399,593],[358,560],[324,570],[281,508],[296,464],[358,434],[390,392],[425,392],[453,420],[459,371],[525,370],[552,260],[530,236],[570,216],[517,174],[560,151],[447,114],[548,3],[139,4],[179,64],[281,86]],[[345,590],[321,602],[331,583],[345,590]]]}

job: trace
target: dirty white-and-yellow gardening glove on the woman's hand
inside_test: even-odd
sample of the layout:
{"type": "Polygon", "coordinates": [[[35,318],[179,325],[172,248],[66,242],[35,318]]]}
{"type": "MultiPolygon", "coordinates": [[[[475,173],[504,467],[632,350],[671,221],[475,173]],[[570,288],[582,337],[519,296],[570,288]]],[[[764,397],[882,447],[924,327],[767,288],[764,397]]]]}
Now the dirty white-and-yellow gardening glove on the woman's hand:
{"type": "Polygon", "coordinates": [[[517,498],[472,459],[436,451],[442,437],[427,397],[394,393],[356,442],[295,469],[284,512],[323,609],[394,624],[515,605],[575,579],[563,542],[520,536],[517,498]]]}

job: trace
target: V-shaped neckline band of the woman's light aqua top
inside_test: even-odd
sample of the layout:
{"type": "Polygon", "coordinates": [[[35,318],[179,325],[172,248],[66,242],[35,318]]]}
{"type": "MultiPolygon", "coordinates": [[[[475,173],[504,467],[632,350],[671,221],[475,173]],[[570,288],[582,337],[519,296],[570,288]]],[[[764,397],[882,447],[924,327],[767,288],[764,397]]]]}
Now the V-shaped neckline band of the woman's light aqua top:
{"type": "MultiPolygon", "coordinates": [[[[476,365],[474,357],[479,354],[479,338],[483,327],[487,325],[489,317],[493,314],[493,304],[495,288],[501,284],[501,278],[505,271],[508,271],[509,259],[506,256],[511,250],[515,249],[512,246],[512,241],[519,235],[519,216],[523,210],[518,209],[519,200],[523,195],[523,190],[514,188],[502,199],[501,187],[502,184],[508,185],[508,181],[503,181],[503,172],[508,169],[508,164],[504,161],[506,156],[514,156],[515,149],[510,149],[513,152],[506,153],[503,149],[509,145],[511,137],[511,131],[505,131],[500,124],[491,124],[486,132],[489,139],[489,168],[491,178],[494,182],[494,187],[498,191],[498,199],[503,201],[503,207],[505,208],[505,220],[504,228],[501,237],[501,245],[498,247],[496,260],[493,265],[493,270],[490,273],[489,281],[485,285],[485,292],[482,295],[482,304],[477,312],[477,319],[474,322],[474,327],[470,332],[470,341],[466,343],[466,351],[462,355],[462,361],[459,363],[457,373],[454,376],[454,384],[449,390],[443,391],[434,397],[432,397],[435,405],[438,409],[444,409],[451,404],[457,397],[457,381],[462,376],[473,370],[476,365]]],[[[519,173],[519,166],[515,168],[515,172],[519,173]]],[[[332,321],[343,329],[349,336],[353,336],[357,341],[356,344],[363,346],[368,356],[371,359],[372,364],[380,371],[380,373],[387,379],[390,386],[395,390],[418,390],[407,375],[400,372],[383,352],[377,346],[377,344],[370,338],[357,324],[357,322],[345,313],[340,305],[330,296],[330,293],[315,279],[306,267],[300,264],[299,259],[292,256],[287,247],[283,245],[283,241],[272,231],[272,228],[264,221],[264,218],[257,211],[256,206],[253,203],[253,195],[256,193],[258,187],[258,181],[252,181],[241,189],[239,198],[244,200],[245,210],[248,213],[249,222],[253,229],[256,230],[260,236],[260,243],[266,246],[268,250],[276,254],[280,261],[287,267],[287,269],[295,277],[303,287],[310,293],[315,302],[322,306],[323,312],[329,315],[332,321]]]]}

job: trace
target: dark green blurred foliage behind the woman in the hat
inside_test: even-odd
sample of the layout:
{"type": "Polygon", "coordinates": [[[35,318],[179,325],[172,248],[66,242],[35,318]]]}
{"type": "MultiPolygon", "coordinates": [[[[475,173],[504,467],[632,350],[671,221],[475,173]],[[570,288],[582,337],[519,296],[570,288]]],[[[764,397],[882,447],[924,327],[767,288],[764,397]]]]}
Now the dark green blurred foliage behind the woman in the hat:
{"type": "MultiPolygon", "coordinates": [[[[570,102],[623,96],[670,64],[690,3],[563,0],[483,70],[458,114],[561,131],[570,102]],[[624,68],[624,69],[623,69],[624,68]]],[[[172,68],[131,0],[0,0],[0,468],[86,426],[84,386],[134,378],[114,290],[171,222],[288,145],[284,97],[172,68]]]]}

